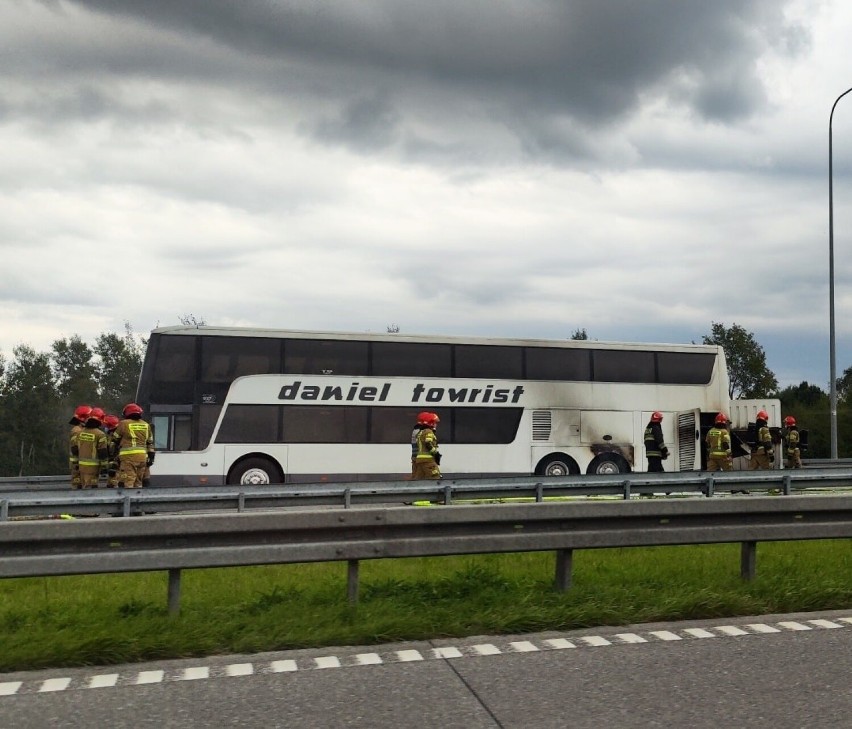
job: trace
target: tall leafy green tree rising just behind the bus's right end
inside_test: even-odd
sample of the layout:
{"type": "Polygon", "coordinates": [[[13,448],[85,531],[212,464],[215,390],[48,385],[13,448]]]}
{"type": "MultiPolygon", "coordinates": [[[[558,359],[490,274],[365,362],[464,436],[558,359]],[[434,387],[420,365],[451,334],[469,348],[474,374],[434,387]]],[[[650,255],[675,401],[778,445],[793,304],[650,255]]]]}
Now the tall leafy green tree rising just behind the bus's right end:
{"type": "Polygon", "coordinates": [[[754,334],[739,324],[730,328],[712,323],[711,333],[703,337],[704,344],[718,344],[728,361],[730,385],[728,395],[734,398],[768,397],[778,390],[778,380],[766,366],[766,353],[754,334]]]}

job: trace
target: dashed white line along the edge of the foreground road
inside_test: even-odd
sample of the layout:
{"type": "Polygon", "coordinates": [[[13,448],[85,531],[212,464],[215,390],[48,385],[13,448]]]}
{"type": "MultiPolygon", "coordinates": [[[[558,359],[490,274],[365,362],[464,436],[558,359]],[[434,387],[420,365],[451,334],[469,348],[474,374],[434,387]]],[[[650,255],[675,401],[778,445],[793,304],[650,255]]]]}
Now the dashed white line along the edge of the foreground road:
{"type": "MultiPolygon", "coordinates": [[[[743,636],[766,636],[784,632],[806,632],[813,630],[837,630],[852,627],[852,616],[833,620],[784,620],[777,623],[748,623],[743,625],[717,625],[706,628],[683,628],[672,630],[649,630],[645,632],[611,633],[606,635],[575,636],[567,638],[541,638],[537,640],[513,640],[503,644],[477,643],[473,645],[439,646],[426,651],[414,648],[389,651],[387,653],[353,653],[341,656],[317,656],[314,658],[290,658],[268,663],[231,663],[211,666],[190,666],[166,673],[164,670],[147,670],[135,673],[96,673],[75,678],[63,676],[31,681],[0,681],[0,700],[3,697],[60,691],[103,689],[121,686],[142,686],[174,681],[200,681],[214,678],[238,678],[253,674],[296,673],[353,666],[372,666],[390,663],[411,663],[427,660],[460,659],[465,657],[496,656],[518,653],[536,653],[565,650],[568,648],[602,648],[613,645],[637,645],[641,643],[700,640],[705,638],[738,638],[743,636]]],[[[2,678],[2,677],[0,677],[2,678]]]]}

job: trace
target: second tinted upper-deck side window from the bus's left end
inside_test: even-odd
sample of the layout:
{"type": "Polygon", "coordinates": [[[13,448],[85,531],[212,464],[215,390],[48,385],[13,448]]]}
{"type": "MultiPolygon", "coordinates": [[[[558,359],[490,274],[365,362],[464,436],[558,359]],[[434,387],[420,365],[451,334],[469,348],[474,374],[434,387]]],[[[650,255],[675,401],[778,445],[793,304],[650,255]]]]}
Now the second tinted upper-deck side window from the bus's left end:
{"type": "Polygon", "coordinates": [[[261,337],[201,337],[201,381],[232,382],[281,370],[281,342],[261,337]]]}

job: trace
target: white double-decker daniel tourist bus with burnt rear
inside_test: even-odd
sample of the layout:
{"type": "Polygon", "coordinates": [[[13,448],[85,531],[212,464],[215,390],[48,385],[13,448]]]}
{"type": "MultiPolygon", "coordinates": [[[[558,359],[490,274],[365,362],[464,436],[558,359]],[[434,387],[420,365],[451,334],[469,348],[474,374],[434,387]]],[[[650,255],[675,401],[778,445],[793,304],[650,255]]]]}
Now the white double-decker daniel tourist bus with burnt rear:
{"type": "Polygon", "coordinates": [[[666,470],[698,470],[732,408],[718,346],[208,326],[151,333],[137,400],[155,485],[404,479],[423,410],[445,477],[644,471],[655,410],[666,470]]]}

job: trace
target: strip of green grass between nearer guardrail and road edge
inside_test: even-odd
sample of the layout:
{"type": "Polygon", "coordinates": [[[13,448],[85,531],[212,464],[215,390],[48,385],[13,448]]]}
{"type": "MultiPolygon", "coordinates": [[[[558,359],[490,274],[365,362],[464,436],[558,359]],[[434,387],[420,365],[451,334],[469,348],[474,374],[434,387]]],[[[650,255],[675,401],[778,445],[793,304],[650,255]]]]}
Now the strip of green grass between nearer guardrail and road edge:
{"type": "Polygon", "coordinates": [[[852,541],[584,550],[554,590],[553,553],[0,581],[0,671],[768,612],[852,608],[852,541]]]}

